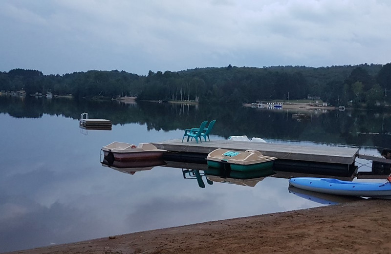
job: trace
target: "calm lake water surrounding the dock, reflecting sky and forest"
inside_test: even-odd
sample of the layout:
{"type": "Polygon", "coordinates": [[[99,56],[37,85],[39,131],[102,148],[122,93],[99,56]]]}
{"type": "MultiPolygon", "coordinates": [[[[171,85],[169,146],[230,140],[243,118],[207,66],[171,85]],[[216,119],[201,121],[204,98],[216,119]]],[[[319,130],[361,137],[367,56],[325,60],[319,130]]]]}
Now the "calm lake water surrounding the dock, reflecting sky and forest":
{"type": "MultiPolygon", "coordinates": [[[[391,142],[388,113],[317,110],[301,122],[293,113],[0,97],[0,252],[325,205],[290,193],[285,178],[266,177],[248,187],[211,185],[203,176],[200,188],[186,164],[134,174],[103,167],[100,149],[113,141],[181,138],[183,129],[217,119],[211,139],[247,135],[272,143],[355,146],[375,155],[391,142]],[[83,112],[111,120],[112,130],[81,129],[83,112]]],[[[367,161],[357,162],[370,170],[361,167],[367,161]]]]}

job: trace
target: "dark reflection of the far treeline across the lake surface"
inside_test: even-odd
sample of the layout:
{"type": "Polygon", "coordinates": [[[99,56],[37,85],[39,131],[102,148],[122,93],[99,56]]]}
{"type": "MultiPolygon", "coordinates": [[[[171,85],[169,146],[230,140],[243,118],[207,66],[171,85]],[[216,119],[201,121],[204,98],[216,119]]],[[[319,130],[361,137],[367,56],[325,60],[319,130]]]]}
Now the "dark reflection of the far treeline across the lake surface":
{"type": "MultiPolygon", "coordinates": [[[[78,119],[82,112],[91,118],[109,119],[113,125],[137,123],[147,130],[176,130],[199,126],[217,119],[214,135],[228,138],[247,135],[272,140],[301,140],[353,146],[387,147],[391,143],[391,114],[387,111],[306,111],[308,120],[292,118],[292,109],[268,110],[231,105],[183,105],[138,102],[133,106],[109,102],[68,99],[0,97],[0,112],[17,118],[40,118],[43,114],[78,119]],[[12,106],[10,106],[12,105],[12,106]],[[232,123],[237,123],[233,125],[232,123]]],[[[304,114],[304,113],[302,113],[304,114]]]]}

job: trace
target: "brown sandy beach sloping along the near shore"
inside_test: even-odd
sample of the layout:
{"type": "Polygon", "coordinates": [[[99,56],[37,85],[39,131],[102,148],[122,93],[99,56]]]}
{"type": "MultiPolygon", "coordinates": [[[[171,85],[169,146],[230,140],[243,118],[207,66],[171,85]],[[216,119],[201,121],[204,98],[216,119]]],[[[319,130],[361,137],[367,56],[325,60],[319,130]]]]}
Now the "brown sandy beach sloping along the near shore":
{"type": "Polygon", "coordinates": [[[206,222],[14,254],[391,253],[391,200],[363,199],[206,222]]]}

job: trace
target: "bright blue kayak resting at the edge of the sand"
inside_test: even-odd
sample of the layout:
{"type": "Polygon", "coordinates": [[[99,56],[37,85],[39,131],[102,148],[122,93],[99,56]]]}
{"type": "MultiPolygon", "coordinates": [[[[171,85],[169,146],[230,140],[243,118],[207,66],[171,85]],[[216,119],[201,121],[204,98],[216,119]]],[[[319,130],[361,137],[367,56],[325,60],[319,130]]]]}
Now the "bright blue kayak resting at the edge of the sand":
{"type": "Polygon", "coordinates": [[[295,177],[289,179],[293,187],[334,195],[391,198],[391,183],[349,182],[332,178],[295,177]]]}

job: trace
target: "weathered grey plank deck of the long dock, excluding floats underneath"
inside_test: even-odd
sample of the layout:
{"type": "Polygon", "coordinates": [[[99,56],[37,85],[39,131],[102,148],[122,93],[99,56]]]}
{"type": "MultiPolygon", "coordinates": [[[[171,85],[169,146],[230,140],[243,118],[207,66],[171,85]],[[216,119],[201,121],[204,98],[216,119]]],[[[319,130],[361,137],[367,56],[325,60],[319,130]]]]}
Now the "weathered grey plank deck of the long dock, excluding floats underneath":
{"type": "Polygon", "coordinates": [[[258,150],[265,156],[286,160],[300,160],[350,165],[358,155],[358,148],[329,146],[298,146],[280,143],[259,143],[232,140],[212,140],[198,144],[182,139],[166,140],[152,143],[156,148],[172,152],[209,153],[217,148],[244,151],[258,150]]]}

